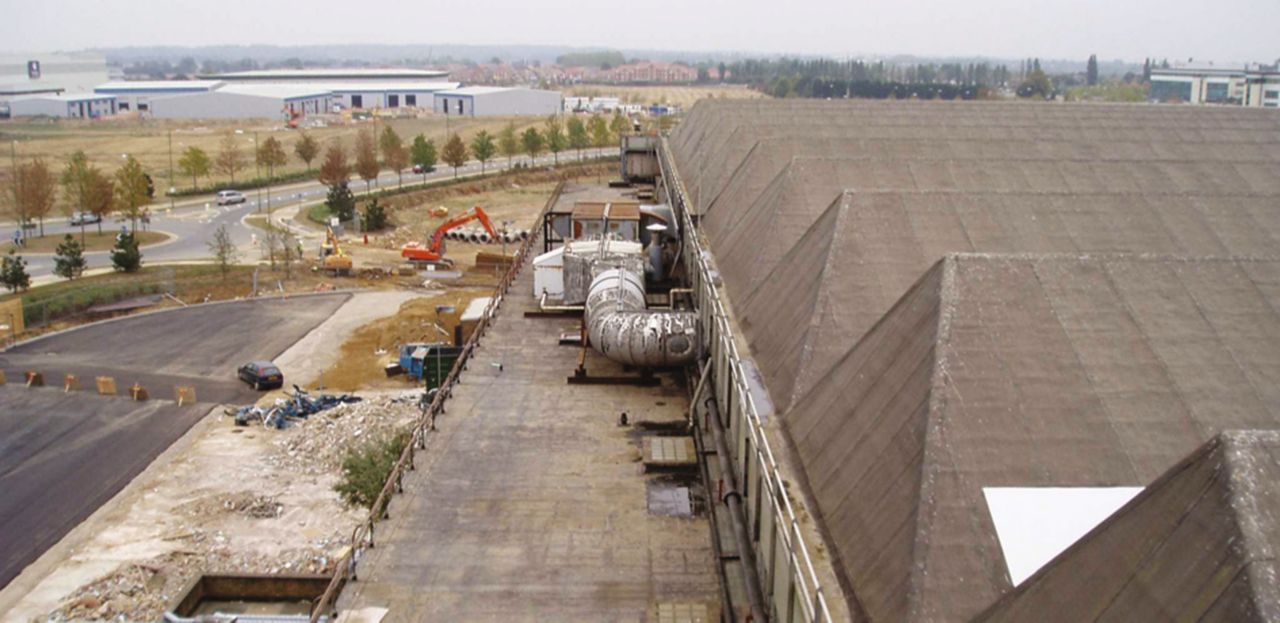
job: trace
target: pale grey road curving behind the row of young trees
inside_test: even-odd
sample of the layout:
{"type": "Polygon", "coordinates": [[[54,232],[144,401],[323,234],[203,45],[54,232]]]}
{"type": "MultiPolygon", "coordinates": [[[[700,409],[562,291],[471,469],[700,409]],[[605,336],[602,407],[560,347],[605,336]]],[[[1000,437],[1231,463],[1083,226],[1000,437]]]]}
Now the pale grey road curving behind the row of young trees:
{"type": "MultiPolygon", "coordinates": [[[[609,148],[602,151],[604,155],[617,155],[618,150],[609,148]]],[[[591,150],[584,154],[585,157],[596,157],[602,152],[591,150]]],[[[576,152],[566,152],[559,155],[561,162],[576,161],[576,152]]],[[[554,160],[552,156],[539,157],[538,165],[549,165],[554,160]]],[[[529,159],[517,159],[513,164],[527,164],[529,159]]],[[[485,171],[506,170],[507,160],[500,159],[497,161],[490,161],[485,165],[485,171]]],[[[466,166],[458,169],[458,177],[472,177],[480,174],[480,162],[471,161],[466,166]]],[[[406,173],[403,178],[404,185],[417,185],[424,182],[434,182],[440,179],[447,179],[453,177],[453,169],[449,166],[439,166],[435,171],[422,175],[415,175],[412,173],[406,173]]],[[[371,184],[371,188],[396,188],[399,178],[392,171],[384,171],[379,178],[371,184]]],[[[353,179],[351,183],[352,192],[358,196],[365,191],[365,183],[361,179],[353,179]]],[[[145,248],[142,251],[142,258],[145,264],[160,264],[160,262],[178,262],[178,261],[191,261],[191,260],[207,260],[210,257],[209,241],[212,238],[214,232],[219,225],[227,225],[227,229],[232,234],[232,239],[236,246],[241,249],[242,261],[256,261],[257,256],[251,253],[253,235],[259,233],[255,228],[244,225],[241,219],[244,216],[257,212],[259,206],[262,207],[261,211],[266,211],[268,207],[282,209],[293,206],[312,206],[324,201],[328,189],[324,184],[319,182],[302,182],[297,184],[288,184],[279,188],[273,188],[268,192],[265,188],[261,191],[246,191],[244,196],[248,198],[247,202],[236,206],[218,206],[212,196],[196,197],[183,201],[174,202],[173,210],[160,201],[152,206],[155,215],[151,219],[151,229],[156,232],[166,232],[177,235],[177,239],[169,243],[154,246],[145,248]]],[[[13,223],[0,224],[0,232],[4,233],[4,239],[10,239],[13,232],[17,228],[13,223]]],[[[102,223],[102,230],[119,229],[119,223],[113,223],[111,220],[102,223]]],[[[86,226],[86,232],[97,230],[97,225],[86,226]]],[[[45,235],[63,235],[65,233],[78,233],[78,226],[70,226],[67,220],[58,219],[45,224],[45,235]]],[[[311,251],[311,249],[308,249],[311,251]]],[[[27,272],[31,274],[36,283],[44,283],[54,280],[54,258],[51,255],[26,255],[27,260],[27,272]]],[[[88,270],[92,269],[105,269],[111,265],[110,252],[100,251],[93,253],[86,253],[84,258],[88,264],[88,270]]]]}

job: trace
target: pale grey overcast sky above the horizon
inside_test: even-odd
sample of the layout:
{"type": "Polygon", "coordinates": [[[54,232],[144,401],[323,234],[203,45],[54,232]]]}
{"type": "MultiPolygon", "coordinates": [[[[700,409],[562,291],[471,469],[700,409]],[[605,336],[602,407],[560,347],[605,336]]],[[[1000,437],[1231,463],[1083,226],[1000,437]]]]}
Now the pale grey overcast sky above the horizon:
{"type": "Polygon", "coordinates": [[[544,43],[790,54],[1280,58],[1280,0],[0,0],[0,49],[544,43]]]}

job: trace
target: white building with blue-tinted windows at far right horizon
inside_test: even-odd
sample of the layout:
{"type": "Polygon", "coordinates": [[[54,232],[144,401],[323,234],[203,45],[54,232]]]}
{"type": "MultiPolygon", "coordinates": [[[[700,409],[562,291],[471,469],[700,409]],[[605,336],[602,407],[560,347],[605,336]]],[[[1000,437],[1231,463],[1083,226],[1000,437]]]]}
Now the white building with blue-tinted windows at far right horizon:
{"type": "Polygon", "coordinates": [[[1257,65],[1152,68],[1149,99],[1158,102],[1280,107],[1280,72],[1257,65]]]}

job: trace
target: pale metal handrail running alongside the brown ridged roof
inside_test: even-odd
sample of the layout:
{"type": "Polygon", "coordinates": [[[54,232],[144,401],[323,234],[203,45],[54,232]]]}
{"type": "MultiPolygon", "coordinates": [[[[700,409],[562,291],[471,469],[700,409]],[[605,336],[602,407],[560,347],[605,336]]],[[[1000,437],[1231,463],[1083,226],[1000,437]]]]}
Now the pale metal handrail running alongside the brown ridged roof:
{"type": "Polygon", "coordinates": [[[712,270],[707,260],[708,255],[704,253],[699,230],[694,226],[692,217],[689,215],[689,196],[685,192],[684,180],[675,175],[676,169],[669,159],[671,148],[667,143],[667,137],[663,136],[660,138],[660,148],[658,150],[658,165],[663,179],[668,182],[668,198],[672,202],[672,207],[680,215],[685,229],[686,261],[692,258],[691,264],[696,267],[695,274],[690,276],[698,278],[696,289],[703,299],[700,303],[707,306],[710,312],[714,330],[709,331],[709,334],[714,336],[718,345],[727,353],[728,370],[724,372],[728,374],[739,403],[742,406],[744,420],[748,425],[746,431],[750,435],[754,450],[753,458],[760,467],[760,475],[763,476],[760,481],[769,500],[768,507],[773,513],[776,524],[783,527],[783,530],[778,531],[778,535],[782,537],[783,551],[788,558],[788,568],[796,572],[794,573],[794,578],[800,594],[804,596],[800,603],[805,610],[805,618],[813,622],[831,622],[827,597],[822,583],[818,581],[813,559],[809,556],[809,549],[805,546],[800,521],[791,505],[791,500],[786,495],[782,473],[778,469],[773,449],[769,446],[768,436],[764,432],[759,408],[746,382],[746,374],[742,368],[744,358],[739,353],[737,343],[732,339],[735,335],[732,324],[728,313],[724,311],[724,303],[721,301],[719,293],[710,281],[712,270]]]}

